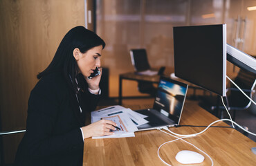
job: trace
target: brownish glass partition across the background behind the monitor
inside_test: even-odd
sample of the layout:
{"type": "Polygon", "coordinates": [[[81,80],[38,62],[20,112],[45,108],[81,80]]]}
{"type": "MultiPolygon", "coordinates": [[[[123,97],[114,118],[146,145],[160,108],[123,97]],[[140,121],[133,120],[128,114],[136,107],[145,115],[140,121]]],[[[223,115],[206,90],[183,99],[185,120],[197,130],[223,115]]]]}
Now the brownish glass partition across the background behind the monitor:
{"type": "MultiPolygon", "coordinates": [[[[249,0],[97,0],[96,32],[107,43],[109,95],[118,96],[120,73],[134,71],[129,50],[146,48],[152,67],[174,66],[173,26],[227,24],[227,43],[256,55],[256,1],[249,0]]],[[[227,64],[227,72],[233,65],[227,64]]],[[[125,81],[123,95],[143,95],[125,81]]]]}

